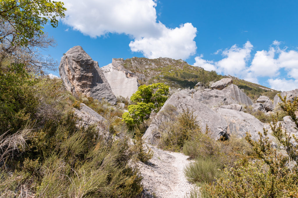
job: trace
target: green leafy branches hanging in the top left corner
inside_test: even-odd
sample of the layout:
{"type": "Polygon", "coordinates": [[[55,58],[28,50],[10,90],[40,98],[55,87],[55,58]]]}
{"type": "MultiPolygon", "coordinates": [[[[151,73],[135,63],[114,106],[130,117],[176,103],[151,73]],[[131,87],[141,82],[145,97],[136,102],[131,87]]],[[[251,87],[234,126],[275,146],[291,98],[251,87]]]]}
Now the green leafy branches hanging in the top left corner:
{"type": "Polygon", "coordinates": [[[51,0],[2,0],[1,23],[10,24],[12,31],[1,35],[1,43],[8,40],[12,45],[26,46],[30,40],[40,38],[48,21],[52,27],[57,27],[58,18],[65,16],[63,5],[61,1],[51,0]]]}

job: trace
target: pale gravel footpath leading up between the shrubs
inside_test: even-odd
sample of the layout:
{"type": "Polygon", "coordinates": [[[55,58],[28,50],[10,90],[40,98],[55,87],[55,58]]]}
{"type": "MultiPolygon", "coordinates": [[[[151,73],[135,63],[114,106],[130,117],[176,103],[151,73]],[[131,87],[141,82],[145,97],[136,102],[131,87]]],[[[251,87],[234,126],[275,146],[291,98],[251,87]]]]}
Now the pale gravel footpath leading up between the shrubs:
{"type": "Polygon", "coordinates": [[[189,194],[193,185],[183,173],[183,168],[190,163],[188,156],[160,150],[148,145],[153,151],[153,158],[148,164],[139,163],[144,186],[144,197],[177,197],[189,194]]]}

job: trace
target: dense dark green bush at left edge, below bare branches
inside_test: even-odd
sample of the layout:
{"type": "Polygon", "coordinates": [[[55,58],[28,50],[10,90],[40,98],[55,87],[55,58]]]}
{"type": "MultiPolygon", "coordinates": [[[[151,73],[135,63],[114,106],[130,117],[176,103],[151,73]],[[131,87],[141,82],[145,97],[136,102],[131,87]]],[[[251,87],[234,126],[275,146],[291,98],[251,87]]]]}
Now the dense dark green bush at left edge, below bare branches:
{"type": "Polygon", "coordinates": [[[33,86],[38,80],[24,65],[0,67],[0,135],[18,131],[35,115],[38,97],[33,86]]]}

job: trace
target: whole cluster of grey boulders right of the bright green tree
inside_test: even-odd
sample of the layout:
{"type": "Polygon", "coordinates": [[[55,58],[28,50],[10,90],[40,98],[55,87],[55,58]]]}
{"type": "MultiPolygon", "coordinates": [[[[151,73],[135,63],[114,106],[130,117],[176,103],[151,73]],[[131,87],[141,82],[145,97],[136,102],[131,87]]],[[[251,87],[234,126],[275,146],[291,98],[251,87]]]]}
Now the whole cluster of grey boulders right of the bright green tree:
{"type": "MultiPolygon", "coordinates": [[[[178,91],[164,103],[162,109],[154,116],[144,138],[150,144],[158,142],[163,130],[163,122],[167,119],[163,110],[170,105],[176,108],[177,114],[186,109],[193,111],[202,130],[204,131],[207,124],[211,131],[209,135],[214,139],[231,135],[243,138],[246,132],[251,133],[252,139],[259,139],[258,132],[263,132],[264,124],[251,114],[242,112],[242,106],[237,103],[251,105],[252,101],[233,84],[223,90],[204,89],[193,92],[184,89],[178,91]]],[[[258,104],[263,108],[262,103],[258,104]]],[[[270,134],[268,136],[273,139],[270,134]]]]}

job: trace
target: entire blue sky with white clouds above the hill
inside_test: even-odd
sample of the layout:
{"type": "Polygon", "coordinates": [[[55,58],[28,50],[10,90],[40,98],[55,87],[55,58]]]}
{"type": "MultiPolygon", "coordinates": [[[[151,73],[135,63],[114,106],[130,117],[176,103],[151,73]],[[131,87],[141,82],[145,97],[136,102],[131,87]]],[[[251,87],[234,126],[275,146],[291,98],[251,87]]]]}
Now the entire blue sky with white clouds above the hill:
{"type": "Polygon", "coordinates": [[[58,46],[43,54],[58,62],[81,45],[100,67],[112,58],[181,58],[273,89],[298,88],[298,1],[63,2],[67,17],[45,27],[58,46]]]}

